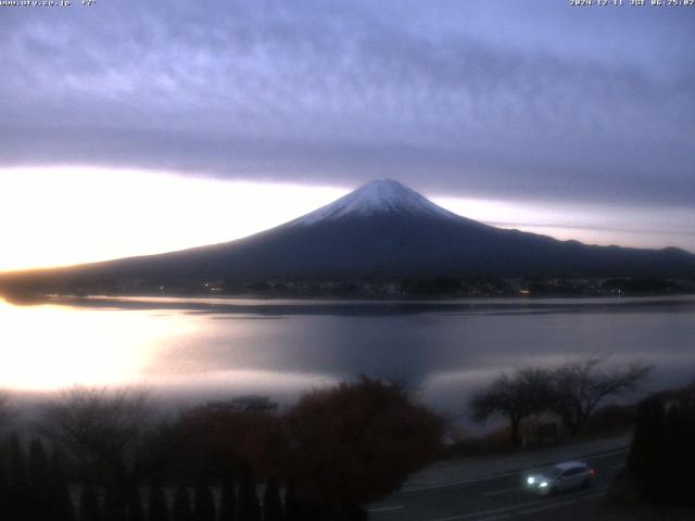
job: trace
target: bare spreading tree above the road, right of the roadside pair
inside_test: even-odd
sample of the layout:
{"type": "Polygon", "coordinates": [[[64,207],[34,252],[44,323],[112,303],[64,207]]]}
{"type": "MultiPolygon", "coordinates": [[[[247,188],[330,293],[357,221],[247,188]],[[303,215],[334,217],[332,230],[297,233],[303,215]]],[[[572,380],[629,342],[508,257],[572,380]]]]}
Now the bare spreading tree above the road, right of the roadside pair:
{"type": "Polygon", "coordinates": [[[568,361],[553,370],[549,410],[565,429],[579,434],[596,407],[611,397],[634,393],[652,371],[652,367],[634,363],[603,369],[606,356],[592,355],[568,361]]]}

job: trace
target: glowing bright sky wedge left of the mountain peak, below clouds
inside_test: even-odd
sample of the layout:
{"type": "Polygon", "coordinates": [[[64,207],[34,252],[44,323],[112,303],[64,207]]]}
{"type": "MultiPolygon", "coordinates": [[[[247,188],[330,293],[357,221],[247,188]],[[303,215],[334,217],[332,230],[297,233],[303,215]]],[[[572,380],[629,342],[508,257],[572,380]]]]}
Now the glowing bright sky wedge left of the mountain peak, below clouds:
{"type": "Polygon", "coordinates": [[[103,168],[0,171],[0,271],[170,252],[291,220],[348,190],[103,168]]]}

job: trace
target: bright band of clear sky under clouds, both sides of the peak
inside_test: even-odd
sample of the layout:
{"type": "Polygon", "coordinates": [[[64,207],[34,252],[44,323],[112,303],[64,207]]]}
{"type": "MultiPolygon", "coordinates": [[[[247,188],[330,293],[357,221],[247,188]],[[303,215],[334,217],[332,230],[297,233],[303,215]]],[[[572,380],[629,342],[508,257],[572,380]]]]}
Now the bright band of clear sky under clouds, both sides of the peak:
{"type": "MultiPolygon", "coordinates": [[[[132,169],[2,169],[0,271],[230,241],[289,221],[349,191],[132,169]]],[[[563,240],[695,250],[695,211],[691,208],[607,211],[568,203],[432,200],[471,219],[563,240]]]]}

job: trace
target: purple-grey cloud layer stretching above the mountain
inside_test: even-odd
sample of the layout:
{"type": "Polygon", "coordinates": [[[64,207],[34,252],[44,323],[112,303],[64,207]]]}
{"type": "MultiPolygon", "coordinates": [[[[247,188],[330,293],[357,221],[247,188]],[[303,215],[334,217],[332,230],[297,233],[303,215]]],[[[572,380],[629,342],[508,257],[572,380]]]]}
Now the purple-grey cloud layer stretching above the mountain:
{"type": "Polygon", "coordinates": [[[566,2],[3,8],[0,166],[692,207],[694,29],[566,2]]]}

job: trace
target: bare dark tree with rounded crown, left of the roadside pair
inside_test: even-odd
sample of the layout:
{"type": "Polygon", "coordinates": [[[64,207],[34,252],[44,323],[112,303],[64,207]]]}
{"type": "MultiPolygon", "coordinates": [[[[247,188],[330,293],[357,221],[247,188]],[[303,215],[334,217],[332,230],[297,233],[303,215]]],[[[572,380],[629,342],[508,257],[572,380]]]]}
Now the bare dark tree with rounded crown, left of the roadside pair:
{"type": "Polygon", "coordinates": [[[511,444],[518,447],[521,420],[547,408],[551,389],[551,374],[546,369],[526,367],[515,370],[511,376],[503,372],[490,386],[473,395],[472,418],[486,421],[493,416],[507,417],[511,444]]]}

